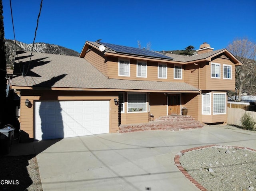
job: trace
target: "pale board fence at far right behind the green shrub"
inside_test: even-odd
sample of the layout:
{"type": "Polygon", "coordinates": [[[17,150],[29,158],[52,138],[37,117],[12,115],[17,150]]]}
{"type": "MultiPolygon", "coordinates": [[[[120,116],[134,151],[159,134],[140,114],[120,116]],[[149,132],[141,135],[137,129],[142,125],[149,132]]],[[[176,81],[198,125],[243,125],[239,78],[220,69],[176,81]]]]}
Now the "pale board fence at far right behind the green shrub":
{"type": "Polygon", "coordinates": [[[228,124],[241,126],[240,119],[245,112],[248,112],[252,116],[252,118],[254,118],[254,120],[256,121],[256,112],[246,111],[241,108],[229,108],[228,107],[228,124]]]}

